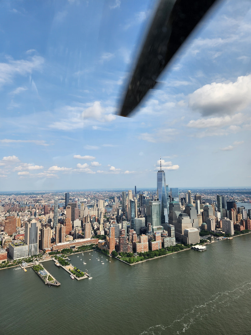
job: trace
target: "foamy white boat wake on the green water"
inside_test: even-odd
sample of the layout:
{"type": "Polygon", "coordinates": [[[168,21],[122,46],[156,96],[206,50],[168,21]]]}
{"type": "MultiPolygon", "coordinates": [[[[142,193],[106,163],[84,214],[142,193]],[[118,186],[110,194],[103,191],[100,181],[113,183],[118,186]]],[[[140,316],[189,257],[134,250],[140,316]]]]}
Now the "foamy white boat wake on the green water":
{"type": "Polygon", "coordinates": [[[251,290],[251,282],[243,283],[233,290],[218,292],[201,305],[195,305],[191,310],[185,310],[169,325],[156,325],[140,333],[140,335],[174,335],[185,333],[192,324],[203,320],[206,316],[220,313],[221,309],[231,306],[233,300],[241,298],[251,290]]]}

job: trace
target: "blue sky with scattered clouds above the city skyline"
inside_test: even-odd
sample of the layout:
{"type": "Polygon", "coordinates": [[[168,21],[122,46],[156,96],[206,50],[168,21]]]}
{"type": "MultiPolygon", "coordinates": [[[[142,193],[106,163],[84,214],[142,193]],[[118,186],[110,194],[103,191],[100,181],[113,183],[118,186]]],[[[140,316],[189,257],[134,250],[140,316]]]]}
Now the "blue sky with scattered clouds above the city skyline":
{"type": "Polygon", "coordinates": [[[116,115],[153,0],[1,1],[0,191],[251,186],[251,3],[208,13],[116,115]]]}

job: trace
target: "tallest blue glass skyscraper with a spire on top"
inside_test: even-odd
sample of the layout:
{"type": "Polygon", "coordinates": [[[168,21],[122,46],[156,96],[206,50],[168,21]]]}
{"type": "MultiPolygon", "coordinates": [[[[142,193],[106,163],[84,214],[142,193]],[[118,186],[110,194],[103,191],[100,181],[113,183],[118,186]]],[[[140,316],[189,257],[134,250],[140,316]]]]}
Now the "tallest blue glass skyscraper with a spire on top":
{"type": "Polygon", "coordinates": [[[160,201],[161,224],[168,223],[166,175],[165,172],[161,170],[161,158],[160,158],[160,170],[157,172],[157,198],[160,201]]]}

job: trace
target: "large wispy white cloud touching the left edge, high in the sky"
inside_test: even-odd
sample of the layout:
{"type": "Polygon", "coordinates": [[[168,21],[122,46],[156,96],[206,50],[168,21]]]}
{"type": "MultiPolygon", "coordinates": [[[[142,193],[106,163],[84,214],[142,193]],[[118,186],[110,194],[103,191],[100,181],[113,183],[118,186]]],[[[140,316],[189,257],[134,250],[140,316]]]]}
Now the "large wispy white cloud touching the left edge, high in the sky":
{"type": "Polygon", "coordinates": [[[29,60],[14,61],[9,58],[8,63],[0,63],[0,87],[12,82],[15,75],[26,75],[33,70],[39,70],[44,63],[44,58],[33,56],[29,60]]]}

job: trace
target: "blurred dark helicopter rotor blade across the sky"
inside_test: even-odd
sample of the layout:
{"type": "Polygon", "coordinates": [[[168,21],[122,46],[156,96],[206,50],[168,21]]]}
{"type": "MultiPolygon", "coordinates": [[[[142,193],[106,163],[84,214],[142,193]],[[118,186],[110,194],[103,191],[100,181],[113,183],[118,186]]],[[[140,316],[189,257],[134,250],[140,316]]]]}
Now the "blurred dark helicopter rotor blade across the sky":
{"type": "Polygon", "coordinates": [[[216,0],[160,0],[118,115],[129,116],[216,0]]]}

